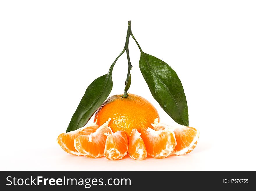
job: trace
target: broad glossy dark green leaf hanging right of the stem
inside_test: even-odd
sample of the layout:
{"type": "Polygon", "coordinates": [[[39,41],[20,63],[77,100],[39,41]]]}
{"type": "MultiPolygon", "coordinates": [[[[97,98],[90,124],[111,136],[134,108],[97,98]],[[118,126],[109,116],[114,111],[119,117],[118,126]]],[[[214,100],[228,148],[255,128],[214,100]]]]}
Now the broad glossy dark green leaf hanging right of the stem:
{"type": "Polygon", "coordinates": [[[189,126],[188,105],[176,72],[162,60],[141,52],[141,73],[154,99],[175,122],[189,126]]]}

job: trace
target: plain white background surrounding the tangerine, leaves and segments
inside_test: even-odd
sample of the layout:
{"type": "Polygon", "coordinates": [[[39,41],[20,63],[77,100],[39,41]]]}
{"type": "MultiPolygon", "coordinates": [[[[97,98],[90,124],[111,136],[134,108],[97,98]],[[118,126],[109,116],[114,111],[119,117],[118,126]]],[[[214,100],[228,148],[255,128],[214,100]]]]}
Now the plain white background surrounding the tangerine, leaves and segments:
{"type": "MultiPolygon", "coordinates": [[[[1,170],[256,170],[255,1],[1,1],[1,170]],[[185,156],[136,161],[65,153],[66,131],[87,86],[122,51],[127,22],[145,53],[168,63],[200,130],[185,156]]],[[[130,93],[155,101],[130,39],[130,93]]],[[[122,94],[123,54],[110,95],[122,94]]],[[[91,123],[90,120],[89,123],[91,123]]]]}

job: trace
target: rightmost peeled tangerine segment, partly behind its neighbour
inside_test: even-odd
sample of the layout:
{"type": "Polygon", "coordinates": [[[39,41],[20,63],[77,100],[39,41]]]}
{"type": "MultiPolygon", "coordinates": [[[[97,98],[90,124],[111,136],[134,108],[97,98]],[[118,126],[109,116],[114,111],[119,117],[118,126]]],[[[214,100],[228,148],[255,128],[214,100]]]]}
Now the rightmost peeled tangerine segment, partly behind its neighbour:
{"type": "Polygon", "coordinates": [[[199,131],[193,127],[182,127],[174,130],[177,145],[172,155],[184,155],[190,153],[195,148],[198,138],[199,131]]]}

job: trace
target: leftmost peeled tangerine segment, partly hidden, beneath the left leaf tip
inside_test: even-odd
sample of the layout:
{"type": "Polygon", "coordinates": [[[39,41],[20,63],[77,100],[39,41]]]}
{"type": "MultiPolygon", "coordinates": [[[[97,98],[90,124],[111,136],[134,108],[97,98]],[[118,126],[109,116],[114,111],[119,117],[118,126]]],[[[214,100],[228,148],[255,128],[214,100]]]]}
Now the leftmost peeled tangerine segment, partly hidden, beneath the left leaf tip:
{"type": "Polygon", "coordinates": [[[61,133],[57,138],[57,142],[61,146],[61,148],[67,153],[81,156],[81,154],[77,152],[74,147],[74,139],[77,138],[79,135],[90,135],[91,133],[95,132],[97,128],[99,128],[97,124],[91,124],[87,127],[81,127],[75,131],[61,133]]]}

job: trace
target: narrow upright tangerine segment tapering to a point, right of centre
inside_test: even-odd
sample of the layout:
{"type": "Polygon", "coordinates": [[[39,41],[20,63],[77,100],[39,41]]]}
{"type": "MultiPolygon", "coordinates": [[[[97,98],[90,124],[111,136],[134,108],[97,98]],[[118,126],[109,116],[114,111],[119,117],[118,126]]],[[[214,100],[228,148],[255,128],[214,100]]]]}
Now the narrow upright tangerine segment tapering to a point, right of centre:
{"type": "Polygon", "coordinates": [[[137,129],[131,131],[128,146],[129,157],[136,160],[147,158],[147,150],[144,141],[141,138],[141,133],[137,129]]]}

